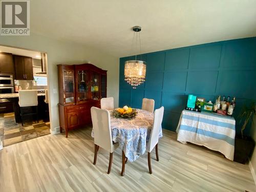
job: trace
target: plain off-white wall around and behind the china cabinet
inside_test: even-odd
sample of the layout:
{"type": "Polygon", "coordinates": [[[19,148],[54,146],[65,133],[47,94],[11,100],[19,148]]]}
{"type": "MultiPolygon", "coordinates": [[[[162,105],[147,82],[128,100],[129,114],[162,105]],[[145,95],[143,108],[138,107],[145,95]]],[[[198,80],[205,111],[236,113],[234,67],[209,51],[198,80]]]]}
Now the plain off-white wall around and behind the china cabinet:
{"type": "Polygon", "coordinates": [[[105,54],[91,47],[58,41],[42,35],[30,33],[30,36],[0,36],[0,45],[46,52],[48,57],[48,77],[50,93],[51,130],[59,126],[57,64],[93,63],[108,70],[108,96],[113,96],[118,106],[119,94],[119,58],[105,54]]]}

